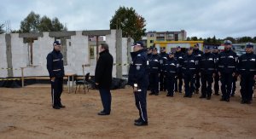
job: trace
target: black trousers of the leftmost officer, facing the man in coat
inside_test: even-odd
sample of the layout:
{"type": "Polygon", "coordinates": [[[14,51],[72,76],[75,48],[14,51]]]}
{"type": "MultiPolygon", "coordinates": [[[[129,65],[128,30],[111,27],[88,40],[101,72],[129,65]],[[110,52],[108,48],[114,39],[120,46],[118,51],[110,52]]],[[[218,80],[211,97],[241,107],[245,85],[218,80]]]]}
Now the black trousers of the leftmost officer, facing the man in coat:
{"type": "Polygon", "coordinates": [[[61,106],[61,94],[63,90],[63,78],[55,78],[50,81],[52,106],[61,106]]]}

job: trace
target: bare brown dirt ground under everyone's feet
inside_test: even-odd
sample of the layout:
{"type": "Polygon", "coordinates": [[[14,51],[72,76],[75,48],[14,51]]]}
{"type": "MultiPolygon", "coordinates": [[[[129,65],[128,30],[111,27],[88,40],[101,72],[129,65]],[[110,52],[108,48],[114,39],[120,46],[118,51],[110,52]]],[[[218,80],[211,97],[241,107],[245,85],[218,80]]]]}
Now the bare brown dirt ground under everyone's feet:
{"type": "Polygon", "coordinates": [[[0,138],[256,138],[256,101],[230,102],[148,96],[148,126],[137,127],[138,111],[131,88],[112,90],[112,113],[98,116],[102,102],[97,90],[61,96],[66,108],[51,107],[49,85],[0,88],[0,138]]]}

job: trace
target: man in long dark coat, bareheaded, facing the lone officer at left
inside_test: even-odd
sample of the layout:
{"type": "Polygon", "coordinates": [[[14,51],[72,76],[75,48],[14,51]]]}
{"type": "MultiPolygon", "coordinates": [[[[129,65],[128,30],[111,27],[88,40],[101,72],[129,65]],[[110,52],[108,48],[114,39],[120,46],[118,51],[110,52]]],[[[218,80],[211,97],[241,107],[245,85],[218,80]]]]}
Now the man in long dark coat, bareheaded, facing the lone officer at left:
{"type": "Polygon", "coordinates": [[[99,89],[103,110],[98,115],[109,115],[111,111],[111,93],[112,84],[113,56],[109,53],[108,44],[102,43],[99,46],[100,57],[96,63],[95,83],[99,89]]]}

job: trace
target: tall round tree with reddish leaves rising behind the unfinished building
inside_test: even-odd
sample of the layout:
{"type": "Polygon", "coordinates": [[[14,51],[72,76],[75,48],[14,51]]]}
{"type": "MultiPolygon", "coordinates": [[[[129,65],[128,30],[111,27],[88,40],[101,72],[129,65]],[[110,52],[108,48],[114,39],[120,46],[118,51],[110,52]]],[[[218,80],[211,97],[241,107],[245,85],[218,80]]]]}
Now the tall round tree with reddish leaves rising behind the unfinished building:
{"type": "Polygon", "coordinates": [[[123,37],[141,40],[145,34],[146,20],[133,8],[119,7],[110,20],[110,29],[121,29],[123,37]]]}

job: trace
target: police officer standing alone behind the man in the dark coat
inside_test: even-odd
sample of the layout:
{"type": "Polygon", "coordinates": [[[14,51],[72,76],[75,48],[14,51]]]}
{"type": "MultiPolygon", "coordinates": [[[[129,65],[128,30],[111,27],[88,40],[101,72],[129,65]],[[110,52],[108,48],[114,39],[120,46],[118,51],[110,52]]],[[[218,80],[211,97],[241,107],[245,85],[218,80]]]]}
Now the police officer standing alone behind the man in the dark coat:
{"type": "Polygon", "coordinates": [[[143,49],[143,43],[134,43],[133,52],[131,52],[131,66],[129,69],[128,84],[133,87],[136,106],[139,111],[139,119],[136,119],[134,125],[148,125],[147,115],[147,88],[148,88],[148,58],[143,49]]]}

